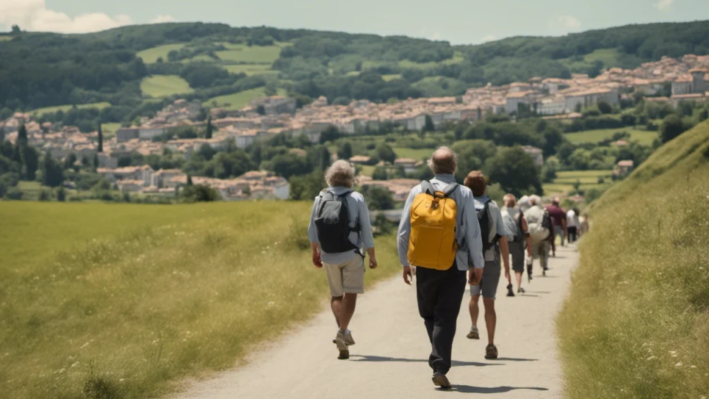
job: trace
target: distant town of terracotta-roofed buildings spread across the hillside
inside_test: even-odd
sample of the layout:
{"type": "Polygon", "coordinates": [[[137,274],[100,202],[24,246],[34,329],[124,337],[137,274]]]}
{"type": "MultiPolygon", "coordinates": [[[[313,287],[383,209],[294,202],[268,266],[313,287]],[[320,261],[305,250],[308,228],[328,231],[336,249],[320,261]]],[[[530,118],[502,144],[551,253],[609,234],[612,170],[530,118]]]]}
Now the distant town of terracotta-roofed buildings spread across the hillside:
{"type": "MultiPolygon", "coordinates": [[[[668,102],[677,106],[681,101],[706,102],[709,97],[709,55],[685,55],[681,59],[662,58],[647,62],[635,70],[611,68],[597,77],[571,75],[569,79],[535,77],[528,82],[514,82],[504,86],[468,89],[462,97],[406,99],[400,102],[375,104],[367,100],[349,105],[330,105],[325,97],[296,109],[296,100],[272,96],[253,99],[239,110],[213,107],[209,109],[213,126],[211,138],[169,138],[157,140],[181,126],[204,127],[206,121],[199,114],[209,104],[179,99],[157,112],[155,117],[143,117],[140,124],[124,126],[115,136],[104,141],[99,151],[99,133],[82,133],[75,126],[39,124],[31,114],[16,113],[0,122],[0,141],[14,143],[18,128],[28,131],[28,143],[52,158],[66,158],[74,154],[82,159],[98,161],[96,172],[113,182],[121,192],[140,192],[145,195],[170,197],[176,187],[186,185],[188,176],[182,170],[153,170],[150,166],[119,168],[118,160],[131,153],[162,155],[166,151],[183,154],[189,159],[204,144],[215,151],[229,146],[248,148],[257,141],[267,141],[279,134],[289,137],[306,136],[312,143],[320,141],[320,134],[329,126],[341,133],[356,135],[377,131],[381,124],[403,126],[409,131],[420,131],[430,118],[435,129],[447,122],[474,123],[489,114],[516,115],[528,112],[545,119],[574,119],[588,106],[607,102],[618,104],[624,97],[640,93],[652,102],[668,102]],[[669,93],[668,93],[669,92],[669,93]],[[670,94],[667,96],[661,94],[670,94]]],[[[525,147],[538,165],[543,163],[539,148],[525,147]]],[[[362,155],[354,156],[353,163],[367,163],[362,155]]],[[[395,165],[413,171],[421,160],[400,158],[395,165]]],[[[623,161],[618,167],[627,173],[632,161],[623,161]]],[[[289,182],[265,171],[252,171],[231,180],[191,177],[196,184],[218,190],[224,200],[289,198],[289,182]]],[[[382,185],[396,200],[405,199],[415,185],[415,179],[375,181],[361,176],[360,185],[382,185]]]]}

